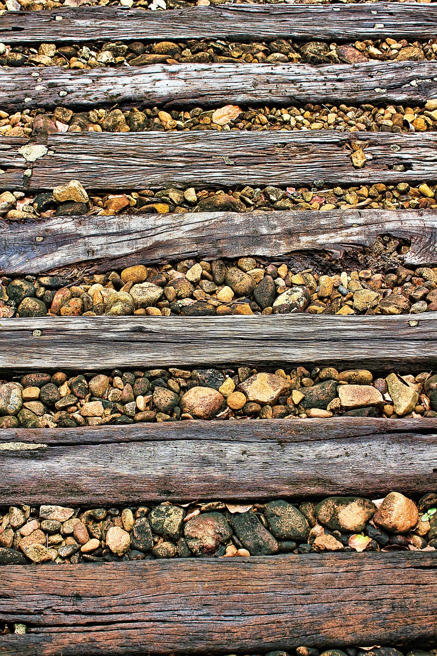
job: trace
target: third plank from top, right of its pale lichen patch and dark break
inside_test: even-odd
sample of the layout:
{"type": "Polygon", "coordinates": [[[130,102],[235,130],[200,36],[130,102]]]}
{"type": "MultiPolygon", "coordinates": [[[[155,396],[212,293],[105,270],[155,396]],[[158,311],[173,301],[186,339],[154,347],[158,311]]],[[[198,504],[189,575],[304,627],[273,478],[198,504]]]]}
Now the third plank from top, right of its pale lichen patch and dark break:
{"type": "MultiPolygon", "coordinates": [[[[187,133],[58,133],[32,166],[30,189],[72,179],[87,189],[173,185],[365,184],[437,180],[437,133],[245,131],[187,133]],[[367,162],[352,164],[351,140],[367,162]],[[403,166],[398,171],[394,167],[403,166]]],[[[26,178],[28,179],[28,178],[26,178]]]]}

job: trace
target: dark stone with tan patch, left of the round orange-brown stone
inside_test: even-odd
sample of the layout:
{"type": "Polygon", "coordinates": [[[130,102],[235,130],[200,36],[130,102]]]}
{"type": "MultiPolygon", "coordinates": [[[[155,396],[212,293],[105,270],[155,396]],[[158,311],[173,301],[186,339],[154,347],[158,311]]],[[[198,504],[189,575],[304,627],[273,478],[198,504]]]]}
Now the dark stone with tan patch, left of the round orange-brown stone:
{"type": "Polygon", "coordinates": [[[333,531],[361,533],[373,517],[376,506],[360,497],[327,497],[317,504],[318,521],[333,531]]]}

